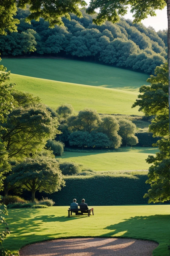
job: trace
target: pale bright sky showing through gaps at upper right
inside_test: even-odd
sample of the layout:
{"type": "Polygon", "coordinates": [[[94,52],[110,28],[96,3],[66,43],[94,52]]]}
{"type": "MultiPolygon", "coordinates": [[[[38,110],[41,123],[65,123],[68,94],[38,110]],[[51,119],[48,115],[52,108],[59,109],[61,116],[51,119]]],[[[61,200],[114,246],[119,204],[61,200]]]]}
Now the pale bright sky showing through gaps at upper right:
{"type": "MultiPolygon", "coordinates": [[[[89,4],[90,0],[85,0],[87,4],[89,4]]],[[[165,7],[163,10],[156,10],[156,16],[151,17],[148,15],[147,19],[142,20],[142,23],[148,27],[153,27],[156,31],[166,29],[168,27],[168,21],[167,21],[167,8],[165,7]]],[[[124,16],[125,19],[133,19],[132,13],[130,12],[130,9],[128,10],[128,14],[124,16]]]]}

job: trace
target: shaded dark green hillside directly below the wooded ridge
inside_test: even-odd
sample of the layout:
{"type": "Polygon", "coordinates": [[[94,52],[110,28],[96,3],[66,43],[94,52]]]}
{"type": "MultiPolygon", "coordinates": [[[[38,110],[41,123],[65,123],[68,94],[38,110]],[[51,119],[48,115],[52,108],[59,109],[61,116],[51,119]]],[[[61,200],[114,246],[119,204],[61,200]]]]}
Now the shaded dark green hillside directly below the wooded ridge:
{"type": "Polygon", "coordinates": [[[93,62],[67,59],[3,59],[12,73],[62,82],[87,84],[123,90],[137,90],[148,84],[148,74],[93,62]]]}

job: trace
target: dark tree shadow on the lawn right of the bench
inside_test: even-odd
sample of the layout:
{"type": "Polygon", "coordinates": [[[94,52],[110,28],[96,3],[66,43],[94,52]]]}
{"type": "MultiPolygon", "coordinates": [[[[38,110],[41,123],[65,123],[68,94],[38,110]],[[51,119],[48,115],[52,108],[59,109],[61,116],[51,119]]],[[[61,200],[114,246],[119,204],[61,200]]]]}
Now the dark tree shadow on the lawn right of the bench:
{"type": "Polygon", "coordinates": [[[169,255],[167,250],[170,230],[170,215],[135,216],[105,227],[109,232],[102,237],[128,237],[151,240],[159,243],[155,255],[169,255]],[[169,228],[168,228],[169,227],[169,228]],[[167,254],[162,254],[163,252],[167,254]]]}

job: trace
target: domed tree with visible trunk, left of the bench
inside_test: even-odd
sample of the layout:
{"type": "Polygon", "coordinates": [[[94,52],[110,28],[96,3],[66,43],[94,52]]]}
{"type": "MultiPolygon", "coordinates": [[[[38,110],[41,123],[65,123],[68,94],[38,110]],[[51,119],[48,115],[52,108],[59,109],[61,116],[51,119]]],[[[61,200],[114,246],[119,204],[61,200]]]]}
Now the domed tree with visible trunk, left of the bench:
{"type": "Polygon", "coordinates": [[[32,202],[35,201],[36,191],[51,194],[65,184],[58,162],[45,156],[25,158],[13,168],[13,173],[8,176],[8,182],[31,191],[32,202]]]}

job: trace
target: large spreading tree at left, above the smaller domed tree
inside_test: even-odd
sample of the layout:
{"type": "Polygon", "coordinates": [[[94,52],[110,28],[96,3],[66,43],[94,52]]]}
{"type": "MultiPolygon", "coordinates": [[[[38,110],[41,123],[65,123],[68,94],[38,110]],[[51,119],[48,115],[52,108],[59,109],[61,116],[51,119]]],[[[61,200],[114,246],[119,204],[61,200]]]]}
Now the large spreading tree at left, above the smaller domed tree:
{"type": "Polygon", "coordinates": [[[58,133],[58,121],[43,105],[14,109],[6,123],[0,124],[1,140],[6,143],[8,158],[23,158],[40,151],[49,138],[58,133]]]}

